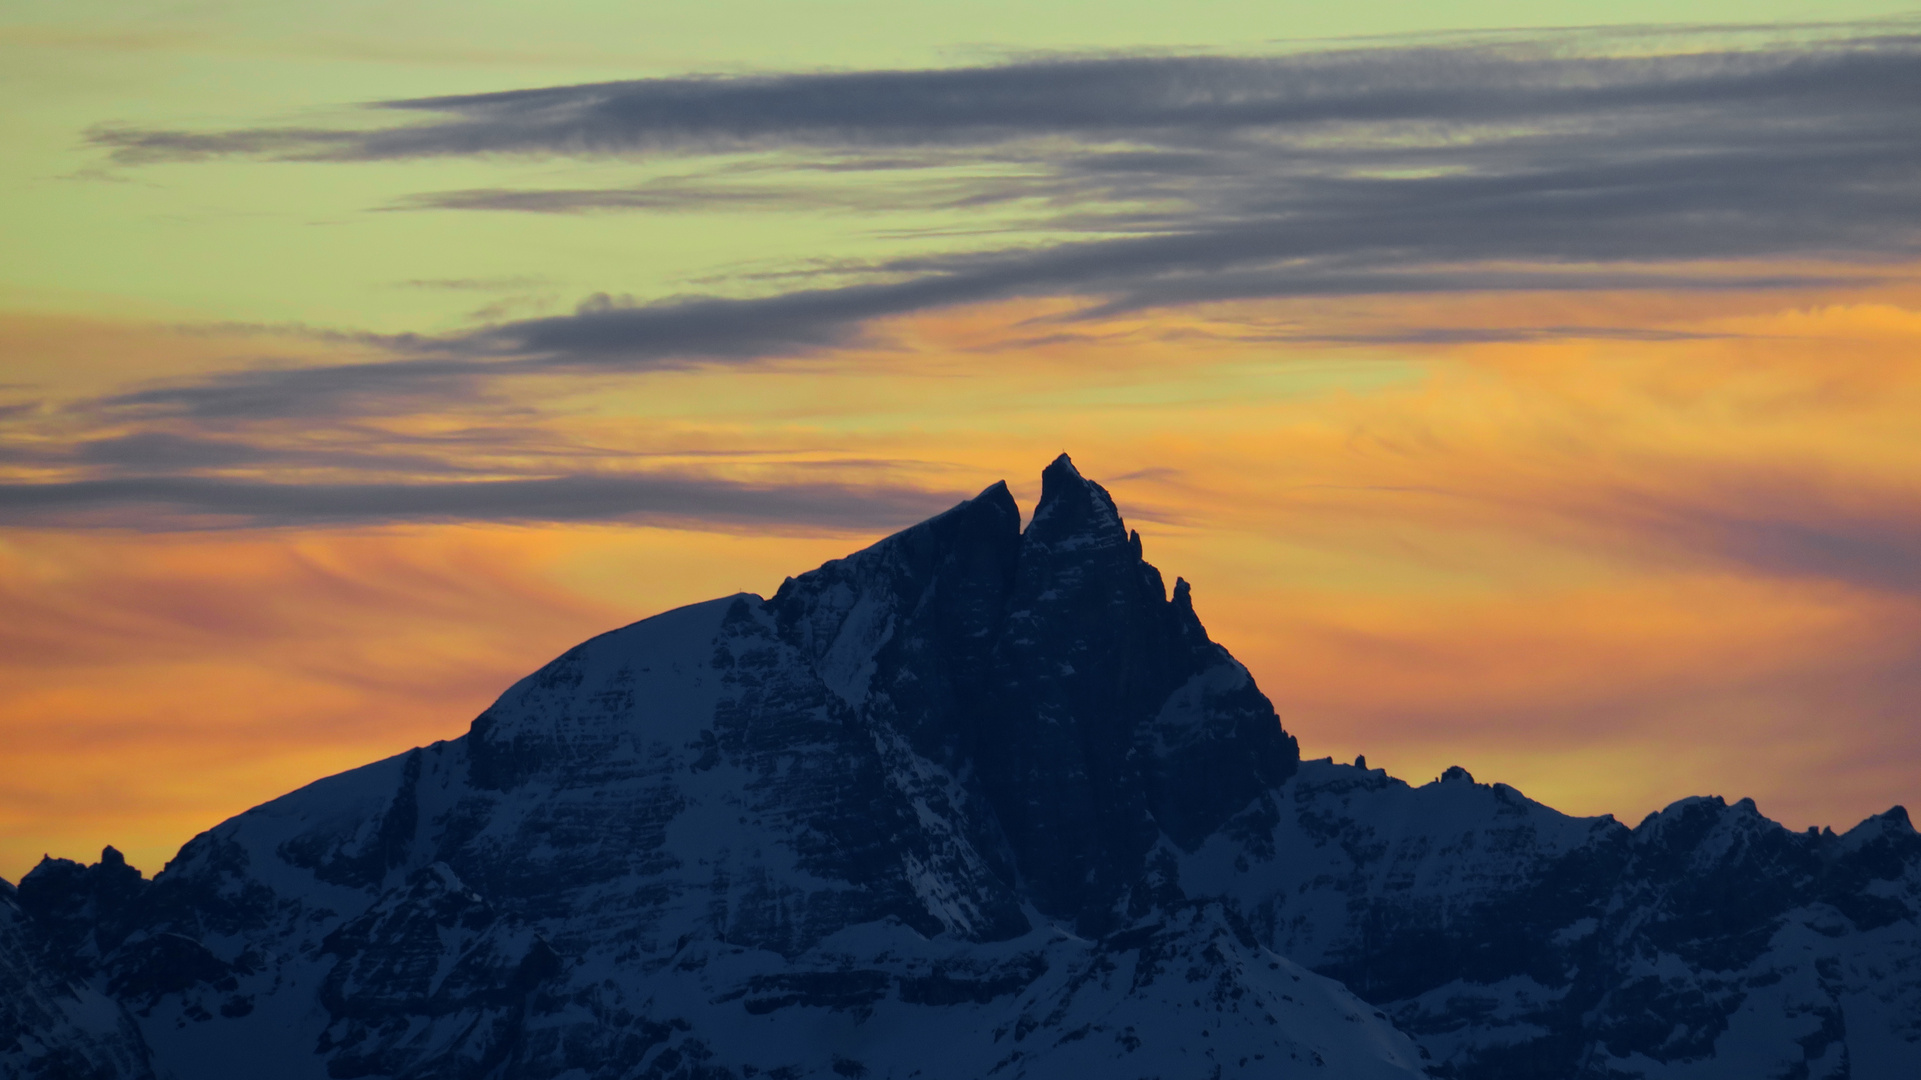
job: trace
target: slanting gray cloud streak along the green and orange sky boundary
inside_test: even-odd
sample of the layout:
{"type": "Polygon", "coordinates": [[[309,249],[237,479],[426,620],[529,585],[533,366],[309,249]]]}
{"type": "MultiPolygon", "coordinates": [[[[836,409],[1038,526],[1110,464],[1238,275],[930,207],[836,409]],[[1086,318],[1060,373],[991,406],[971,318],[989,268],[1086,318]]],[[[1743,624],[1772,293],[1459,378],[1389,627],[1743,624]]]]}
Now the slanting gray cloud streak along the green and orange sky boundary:
{"type": "MultiPolygon", "coordinates": [[[[864,340],[876,319],[1014,296],[1095,292],[1101,286],[1114,288],[1116,294],[1083,309],[1083,315],[1266,296],[1593,288],[1762,290],[1838,281],[1815,275],[1669,275],[1581,267],[1566,273],[1316,265],[1222,271],[1212,267],[1231,265],[1231,254],[1214,252],[1197,240],[1172,236],[1089,242],[1035,254],[951,259],[955,269],[924,273],[903,282],[795,290],[766,298],[693,298],[645,306],[601,300],[571,315],[501,323],[446,338],[396,338],[394,348],[413,352],[417,359],[236,371],[198,382],[150,386],[102,398],[94,407],[134,417],[196,421],[403,415],[457,400],[509,407],[496,382],[517,375],[611,375],[697,363],[805,357],[864,340]],[[1212,273],[1201,273],[1208,269],[1212,273]]],[[[1569,334],[1658,336],[1654,331],[1608,327],[1571,329],[1569,334]]],[[[1529,338],[1539,340],[1541,332],[1529,331],[1529,338]]],[[[1447,344],[1466,338],[1460,331],[1448,329],[1406,329],[1358,336],[1308,334],[1297,340],[1447,344]]]]}

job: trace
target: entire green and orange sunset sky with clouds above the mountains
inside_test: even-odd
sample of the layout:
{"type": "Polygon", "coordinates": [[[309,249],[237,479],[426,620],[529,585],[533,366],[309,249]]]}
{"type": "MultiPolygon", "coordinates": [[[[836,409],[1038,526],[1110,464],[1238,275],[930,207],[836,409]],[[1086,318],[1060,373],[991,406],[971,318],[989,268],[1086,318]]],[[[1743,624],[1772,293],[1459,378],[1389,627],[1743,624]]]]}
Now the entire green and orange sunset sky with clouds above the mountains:
{"type": "Polygon", "coordinates": [[[1921,17],[0,0],[0,876],[1058,452],[1308,757],[1921,809],[1921,17]]]}

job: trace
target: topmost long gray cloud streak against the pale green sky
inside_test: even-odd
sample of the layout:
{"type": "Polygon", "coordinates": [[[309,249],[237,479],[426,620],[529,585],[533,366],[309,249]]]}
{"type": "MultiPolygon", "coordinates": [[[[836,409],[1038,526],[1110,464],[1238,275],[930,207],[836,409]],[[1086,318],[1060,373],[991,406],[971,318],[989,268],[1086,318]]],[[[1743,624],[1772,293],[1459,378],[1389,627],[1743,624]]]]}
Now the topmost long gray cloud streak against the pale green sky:
{"type": "MultiPolygon", "coordinates": [[[[371,161],[469,154],[647,154],[761,146],[1195,140],[1274,127],[1510,125],[1631,110],[1877,104],[1913,90],[1915,37],[1677,56],[1523,46],[1358,48],[1283,58],[1060,58],[937,71],[640,79],[380,102],[425,123],[175,133],[102,129],[121,161],[252,154],[371,161]]],[[[1600,42],[1606,44],[1606,42],[1600,42]]]]}

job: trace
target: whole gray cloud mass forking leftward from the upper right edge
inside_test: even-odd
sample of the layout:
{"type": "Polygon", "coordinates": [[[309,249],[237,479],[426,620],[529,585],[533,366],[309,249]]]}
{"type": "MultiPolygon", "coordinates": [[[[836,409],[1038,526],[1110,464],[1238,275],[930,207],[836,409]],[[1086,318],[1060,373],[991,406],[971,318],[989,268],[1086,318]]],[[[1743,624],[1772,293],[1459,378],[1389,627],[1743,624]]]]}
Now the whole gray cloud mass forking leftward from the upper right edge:
{"type": "Polygon", "coordinates": [[[388,338],[390,361],[240,371],[108,405],[396,409],[523,373],[811,356],[872,342],[886,319],[1033,298],[1105,317],[1291,298],[1869,284],[1921,256],[1921,123],[1906,104],[1915,79],[1921,35],[1896,21],[1760,44],[1562,35],[642,79],[377,102],[353,129],[98,129],[90,138],[125,165],[726,156],[707,173],[628,188],[467,188],[388,209],[924,200],[1018,213],[989,225],[985,246],[841,259],[784,292],[590,298],[565,315],[388,338]]]}

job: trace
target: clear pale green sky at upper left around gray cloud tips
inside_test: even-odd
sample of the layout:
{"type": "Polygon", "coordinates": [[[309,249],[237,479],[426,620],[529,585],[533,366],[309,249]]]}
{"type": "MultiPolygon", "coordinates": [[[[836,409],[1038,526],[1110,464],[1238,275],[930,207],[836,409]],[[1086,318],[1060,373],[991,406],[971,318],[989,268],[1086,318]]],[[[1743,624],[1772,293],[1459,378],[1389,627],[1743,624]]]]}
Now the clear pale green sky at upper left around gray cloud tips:
{"type": "MultiPolygon", "coordinates": [[[[926,246],[968,215],[521,215],[380,208],[469,186],[613,186],[634,161],[213,161],[102,169],[96,125],[352,121],[357,102],[686,71],[926,67],[1032,50],[1272,52],[1356,35],[1796,23],[1869,2],[0,4],[0,304],[161,319],[440,331],[590,292],[726,290],[728,275],[926,246]],[[901,233],[909,234],[901,234],[901,233]],[[496,281],[423,288],[415,281],[496,281]],[[718,279],[718,281],[717,281],[718,279]]],[[[1001,211],[1018,217],[1020,208],[1001,211]]],[[[953,250],[964,240],[943,238],[953,250]]]]}

